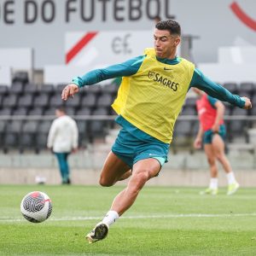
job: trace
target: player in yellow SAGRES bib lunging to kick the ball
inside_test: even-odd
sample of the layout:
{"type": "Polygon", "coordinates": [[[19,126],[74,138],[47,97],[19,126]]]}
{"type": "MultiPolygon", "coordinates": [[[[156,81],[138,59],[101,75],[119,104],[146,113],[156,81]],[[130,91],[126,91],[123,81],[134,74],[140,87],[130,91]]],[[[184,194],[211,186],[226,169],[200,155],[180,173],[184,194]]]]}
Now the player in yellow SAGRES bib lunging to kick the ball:
{"type": "Polygon", "coordinates": [[[145,49],[144,55],[76,77],[62,91],[61,98],[66,101],[84,85],[123,77],[112,105],[119,114],[116,122],[122,128],[102,167],[99,183],[112,186],[131,177],[127,187],[113,199],[102,222],[86,236],[89,242],[105,238],[109,226],[132,206],[145,183],[159,174],[167,161],[173,127],[190,87],[196,86],[239,108],[252,108],[248,98],[232,95],[207,79],[193,63],[178,57],[180,40],[179,24],[162,20],[155,25],[154,49],[145,49]]]}

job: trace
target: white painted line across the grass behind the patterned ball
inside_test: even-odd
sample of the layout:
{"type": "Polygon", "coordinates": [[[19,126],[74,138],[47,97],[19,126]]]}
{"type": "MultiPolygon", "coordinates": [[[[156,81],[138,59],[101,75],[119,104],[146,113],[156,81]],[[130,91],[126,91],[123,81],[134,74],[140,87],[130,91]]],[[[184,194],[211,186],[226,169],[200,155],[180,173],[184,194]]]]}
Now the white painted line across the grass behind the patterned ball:
{"type": "MultiPolygon", "coordinates": [[[[121,218],[126,219],[136,219],[136,218],[230,218],[230,217],[256,217],[256,212],[252,213],[187,213],[187,214],[155,214],[155,215],[134,215],[134,216],[124,216],[121,218]]],[[[48,221],[79,221],[79,220],[94,220],[101,219],[102,217],[63,217],[63,218],[49,218],[48,221]]],[[[0,222],[20,222],[24,218],[9,218],[1,217],[0,222]]]]}

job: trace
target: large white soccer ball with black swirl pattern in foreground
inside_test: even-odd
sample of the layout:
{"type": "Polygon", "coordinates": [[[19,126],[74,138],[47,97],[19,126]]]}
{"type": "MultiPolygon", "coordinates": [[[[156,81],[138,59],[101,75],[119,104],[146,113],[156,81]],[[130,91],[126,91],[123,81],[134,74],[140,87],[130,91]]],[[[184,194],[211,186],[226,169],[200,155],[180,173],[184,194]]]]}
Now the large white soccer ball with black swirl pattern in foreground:
{"type": "Polygon", "coordinates": [[[49,196],[40,191],[25,195],[20,203],[20,212],[26,220],[33,223],[43,222],[49,218],[52,203],[49,196]]]}

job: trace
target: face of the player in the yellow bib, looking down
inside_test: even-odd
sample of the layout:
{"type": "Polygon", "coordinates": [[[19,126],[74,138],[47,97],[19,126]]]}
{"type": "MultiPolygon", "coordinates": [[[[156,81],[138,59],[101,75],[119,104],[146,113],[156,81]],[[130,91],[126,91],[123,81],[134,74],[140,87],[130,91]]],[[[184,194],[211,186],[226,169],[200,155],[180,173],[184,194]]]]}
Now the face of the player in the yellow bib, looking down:
{"type": "Polygon", "coordinates": [[[172,36],[167,30],[154,30],[154,50],[158,57],[173,59],[179,43],[179,36],[172,36]]]}

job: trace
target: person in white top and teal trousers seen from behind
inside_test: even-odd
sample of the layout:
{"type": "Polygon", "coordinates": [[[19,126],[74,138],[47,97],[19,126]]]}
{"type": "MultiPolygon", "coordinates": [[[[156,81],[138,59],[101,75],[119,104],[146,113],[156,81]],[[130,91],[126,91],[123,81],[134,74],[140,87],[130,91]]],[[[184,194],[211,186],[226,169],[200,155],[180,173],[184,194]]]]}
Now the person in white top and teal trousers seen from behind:
{"type": "Polygon", "coordinates": [[[56,108],[56,119],[49,129],[47,147],[55,154],[61,172],[62,184],[71,183],[67,157],[78,149],[79,129],[65,108],[56,108]]]}

